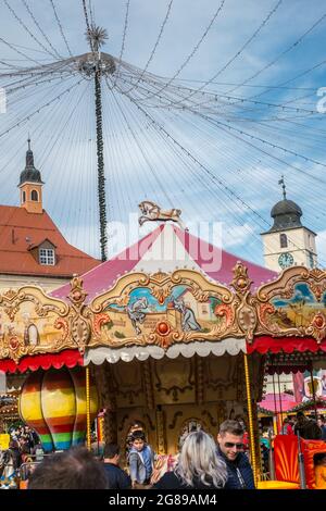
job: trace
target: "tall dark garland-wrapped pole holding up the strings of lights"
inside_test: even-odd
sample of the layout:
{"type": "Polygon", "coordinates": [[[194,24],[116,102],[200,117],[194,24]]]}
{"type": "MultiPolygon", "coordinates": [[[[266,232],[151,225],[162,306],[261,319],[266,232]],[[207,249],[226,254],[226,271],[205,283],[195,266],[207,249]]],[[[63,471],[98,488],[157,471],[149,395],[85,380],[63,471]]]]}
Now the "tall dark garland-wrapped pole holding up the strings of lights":
{"type": "Polygon", "coordinates": [[[108,237],[106,237],[106,200],[105,200],[105,177],[104,177],[104,158],[103,158],[103,129],[102,129],[102,94],[101,94],[101,70],[100,54],[98,52],[95,70],[95,100],[96,100],[96,120],[97,120],[97,157],[98,157],[98,198],[100,216],[100,245],[101,259],[106,261],[108,237]]]}

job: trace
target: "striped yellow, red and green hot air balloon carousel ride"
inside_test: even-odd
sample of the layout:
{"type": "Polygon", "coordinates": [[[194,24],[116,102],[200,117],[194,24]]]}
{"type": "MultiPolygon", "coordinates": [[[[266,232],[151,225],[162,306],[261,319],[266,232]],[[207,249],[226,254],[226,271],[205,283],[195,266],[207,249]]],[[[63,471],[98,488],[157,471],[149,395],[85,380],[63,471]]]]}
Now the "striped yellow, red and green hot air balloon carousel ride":
{"type": "MultiPolygon", "coordinates": [[[[45,451],[65,450],[85,441],[85,369],[51,369],[27,376],[20,396],[23,421],[39,435],[45,451]]],[[[90,419],[98,411],[98,392],[90,381],[90,419]]]]}

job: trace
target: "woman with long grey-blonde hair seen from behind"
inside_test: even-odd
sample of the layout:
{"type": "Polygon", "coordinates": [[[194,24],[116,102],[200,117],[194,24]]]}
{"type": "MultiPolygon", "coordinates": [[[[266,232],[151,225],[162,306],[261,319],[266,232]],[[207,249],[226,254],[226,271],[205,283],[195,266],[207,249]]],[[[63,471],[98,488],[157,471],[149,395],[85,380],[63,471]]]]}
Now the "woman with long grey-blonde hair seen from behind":
{"type": "Polygon", "coordinates": [[[223,488],[226,479],[226,465],[216,454],[214,439],[199,431],[187,436],[175,470],[166,472],[154,489],[223,488]]]}

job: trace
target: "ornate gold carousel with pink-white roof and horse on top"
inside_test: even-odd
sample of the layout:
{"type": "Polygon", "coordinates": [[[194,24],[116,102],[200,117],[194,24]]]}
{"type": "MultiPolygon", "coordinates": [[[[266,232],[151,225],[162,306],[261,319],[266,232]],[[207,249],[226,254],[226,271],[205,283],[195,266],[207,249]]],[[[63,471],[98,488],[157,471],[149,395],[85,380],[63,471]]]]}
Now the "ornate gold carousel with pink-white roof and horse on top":
{"type": "Polygon", "coordinates": [[[215,437],[239,419],[259,482],[264,376],[325,363],[326,273],[277,275],[168,222],[173,212],[161,220],[51,295],[3,292],[0,370],[24,375],[20,414],[47,451],[90,446],[100,411],[105,441],[124,447],[137,423],[161,454],[175,454],[188,431],[215,437]]]}

